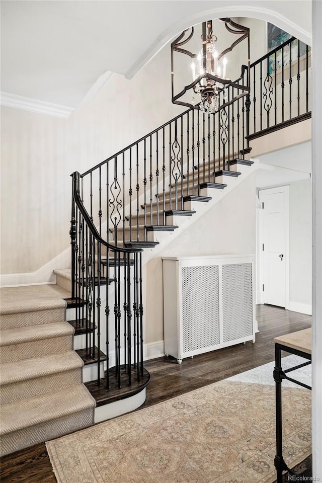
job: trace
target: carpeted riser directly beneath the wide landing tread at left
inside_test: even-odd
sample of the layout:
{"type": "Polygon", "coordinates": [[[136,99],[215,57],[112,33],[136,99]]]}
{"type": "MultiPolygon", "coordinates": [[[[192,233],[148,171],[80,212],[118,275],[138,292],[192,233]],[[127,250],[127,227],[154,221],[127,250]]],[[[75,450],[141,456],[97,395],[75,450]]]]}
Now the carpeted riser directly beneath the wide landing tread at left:
{"type": "Polygon", "coordinates": [[[54,308],[48,310],[37,310],[35,312],[21,312],[4,314],[0,318],[0,329],[14,329],[17,327],[29,327],[52,322],[63,322],[65,320],[65,309],[54,308]]]}

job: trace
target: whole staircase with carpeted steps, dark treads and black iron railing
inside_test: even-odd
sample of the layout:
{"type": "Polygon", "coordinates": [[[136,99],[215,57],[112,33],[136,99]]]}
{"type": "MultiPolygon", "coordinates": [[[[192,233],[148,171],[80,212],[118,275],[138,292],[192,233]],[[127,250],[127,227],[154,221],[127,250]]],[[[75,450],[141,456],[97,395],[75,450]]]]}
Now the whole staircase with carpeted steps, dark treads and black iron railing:
{"type": "Polygon", "coordinates": [[[235,98],[229,86],[217,113],[189,109],[71,175],[71,269],[55,270],[57,285],[1,292],[2,454],[144,403],[144,264],[252,173],[252,139],[310,116],[299,60],[289,90],[280,85],[291,99],[296,75],[296,115],[295,104],[287,120],[283,103],[277,110],[270,55],[251,64],[252,102],[249,93],[225,102],[235,98]]]}

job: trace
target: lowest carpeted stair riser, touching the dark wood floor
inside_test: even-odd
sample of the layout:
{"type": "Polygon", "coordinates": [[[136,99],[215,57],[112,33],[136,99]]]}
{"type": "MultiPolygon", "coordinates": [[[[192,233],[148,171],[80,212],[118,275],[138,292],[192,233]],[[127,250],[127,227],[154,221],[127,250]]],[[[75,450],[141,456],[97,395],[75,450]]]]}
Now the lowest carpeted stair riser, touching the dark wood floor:
{"type": "Polygon", "coordinates": [[[93,409],[86,409],[2,436],[1,456],[58,438],[93,424],[93,409]]]}

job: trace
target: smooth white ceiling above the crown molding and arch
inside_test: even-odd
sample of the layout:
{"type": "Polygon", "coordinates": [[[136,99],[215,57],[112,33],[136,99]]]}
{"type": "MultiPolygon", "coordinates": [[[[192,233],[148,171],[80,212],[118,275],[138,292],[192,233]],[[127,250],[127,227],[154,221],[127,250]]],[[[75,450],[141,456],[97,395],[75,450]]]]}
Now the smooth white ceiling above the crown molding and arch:
{"type": "Polygon", "coordinates": [[[276,25],[309,42],[310,0],[299,0],[296,9],[291,0],[244,4],[236,0],[224,4],[221,0],[4,0],[1,90],[76,107],[106,71],[131,77],[174,35],[214,11],[219,17],[246,16],[249,9],[249,17],[265,20],[275,9],[280,13],[273,14],[276,25]]]}

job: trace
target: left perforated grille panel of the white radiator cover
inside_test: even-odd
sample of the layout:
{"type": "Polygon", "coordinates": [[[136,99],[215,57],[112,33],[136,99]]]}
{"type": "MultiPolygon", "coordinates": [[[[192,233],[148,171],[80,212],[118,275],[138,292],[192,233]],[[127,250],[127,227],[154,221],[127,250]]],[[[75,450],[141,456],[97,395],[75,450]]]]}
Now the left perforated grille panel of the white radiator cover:
{"type": "Polygon", "coordinates": [[[183,352],[219,344],[218,266],[182,268],[183,352]]]}

